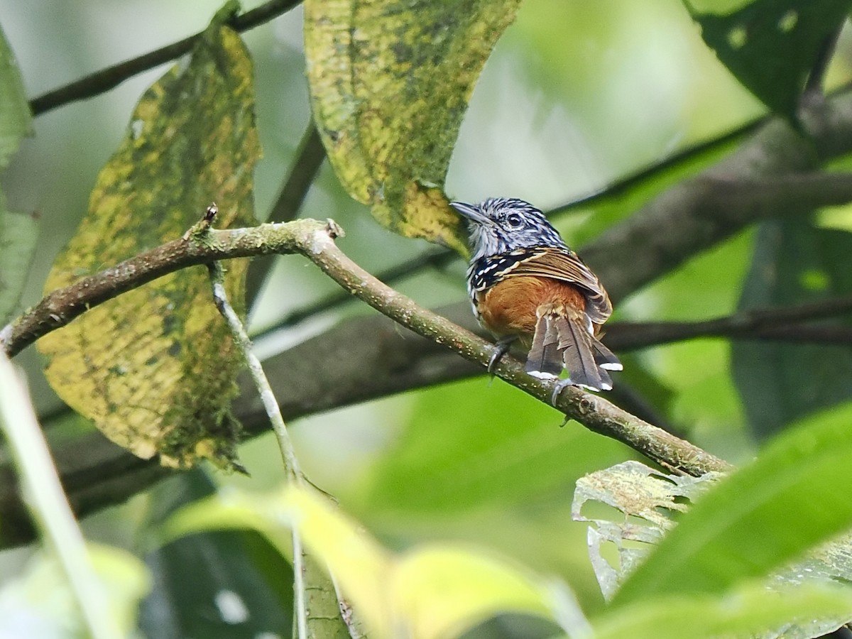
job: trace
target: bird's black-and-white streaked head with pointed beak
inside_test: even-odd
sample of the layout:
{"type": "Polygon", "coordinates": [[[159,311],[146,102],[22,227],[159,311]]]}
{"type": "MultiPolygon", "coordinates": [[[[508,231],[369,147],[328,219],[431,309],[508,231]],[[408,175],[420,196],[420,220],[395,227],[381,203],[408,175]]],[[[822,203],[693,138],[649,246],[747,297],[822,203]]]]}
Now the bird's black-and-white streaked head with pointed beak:
{"type": "Polygon", "coordinates": [[[450,206],[468,219],[471,261],[535,246],[567,248],[544,213],[522,199],[489,198],[481,204],[450,206]]]}

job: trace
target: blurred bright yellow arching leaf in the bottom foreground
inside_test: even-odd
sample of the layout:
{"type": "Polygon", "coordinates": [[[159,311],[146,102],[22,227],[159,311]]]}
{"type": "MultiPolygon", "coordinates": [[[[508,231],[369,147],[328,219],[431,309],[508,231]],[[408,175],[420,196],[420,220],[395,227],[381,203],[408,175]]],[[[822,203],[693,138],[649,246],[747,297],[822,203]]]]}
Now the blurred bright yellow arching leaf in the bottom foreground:
{"type": "MultiPolygon", "coordinates": [[[[250,527],[290,554],[298,530],[327,566],[370,636],[444,639],[497,613],[564,616],[564,593],[522,567],[460,544],[427,544],[394,555],[315,492],[287,488],[259,497],[228,492],[181,509],[166,538],[199,530],[250,527]],[[286,536],[286,537],[285,537],[286,536]]],[[[310,612],[310,611],[309,611],[310,612]]]]}

